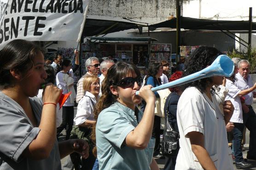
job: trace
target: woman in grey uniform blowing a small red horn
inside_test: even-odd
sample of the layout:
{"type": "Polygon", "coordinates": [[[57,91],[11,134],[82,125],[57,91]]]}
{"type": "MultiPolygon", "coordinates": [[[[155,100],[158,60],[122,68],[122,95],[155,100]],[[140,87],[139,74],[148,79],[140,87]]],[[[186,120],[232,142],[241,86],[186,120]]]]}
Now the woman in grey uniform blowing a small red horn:
{"type": "Polygon", "coordinates": [[[62,90],[45,83],[40,47],[16,39],[0,51],[0,170],[61,170],[60,159],[76,151],[88,157],[85,140],[58,143],[56,107],[62,90]]]}

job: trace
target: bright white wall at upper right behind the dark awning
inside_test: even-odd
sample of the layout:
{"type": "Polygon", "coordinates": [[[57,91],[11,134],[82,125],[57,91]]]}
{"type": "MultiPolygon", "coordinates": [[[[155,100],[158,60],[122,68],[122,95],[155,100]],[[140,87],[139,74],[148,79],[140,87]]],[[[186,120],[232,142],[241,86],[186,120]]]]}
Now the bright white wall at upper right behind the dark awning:
{"type": "MultiPolygon", "coordinates": [[[[183,16],[213,20],[249,20],[250,7],[252,21],[256,22],[256,0],[191,0],[183,4],[183,16]]],[[[236,35],[248,42],[248,34],[236,35]]],[[[256,48],[256,34],[252,34],[251,46],[256,48]]],[[[247,51],[239,43],[236,43],[236,49],[247,51]]]]}

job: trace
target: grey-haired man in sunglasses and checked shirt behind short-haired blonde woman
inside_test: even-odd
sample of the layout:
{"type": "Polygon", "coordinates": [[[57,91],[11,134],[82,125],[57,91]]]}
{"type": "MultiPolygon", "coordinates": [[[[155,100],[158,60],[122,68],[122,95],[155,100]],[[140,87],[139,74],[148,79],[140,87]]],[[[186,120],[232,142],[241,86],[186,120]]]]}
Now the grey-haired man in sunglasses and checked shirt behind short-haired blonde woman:
{"type": "Polygon", "coordinates": [[[86,75],[99,74],[99,59],[90,57],[85,61],[86,74],[83,75],[77,82],[76,103],[78,103],[84,96],[83,79],[86,75]]]}

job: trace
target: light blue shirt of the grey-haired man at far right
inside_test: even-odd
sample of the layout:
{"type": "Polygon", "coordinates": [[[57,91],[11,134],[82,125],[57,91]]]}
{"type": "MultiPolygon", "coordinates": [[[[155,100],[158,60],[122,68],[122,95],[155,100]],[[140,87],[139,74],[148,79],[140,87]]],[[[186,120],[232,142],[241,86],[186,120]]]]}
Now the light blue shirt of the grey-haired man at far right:
{"type": "MultiPolygon", "coordinates": [[[[253,86],[250,75],[248,75],[247,80],[246,80],[244,77],[241,76],[240,73],[237,73],[235,78],[236,78],[235,85],[240,90],[245,90],[245,89],[251,88],[253,86]]],[[[253,93],[252,92],[244,95],[244,97],[245,97],[246,105],[253,104],[253,93]]]]}

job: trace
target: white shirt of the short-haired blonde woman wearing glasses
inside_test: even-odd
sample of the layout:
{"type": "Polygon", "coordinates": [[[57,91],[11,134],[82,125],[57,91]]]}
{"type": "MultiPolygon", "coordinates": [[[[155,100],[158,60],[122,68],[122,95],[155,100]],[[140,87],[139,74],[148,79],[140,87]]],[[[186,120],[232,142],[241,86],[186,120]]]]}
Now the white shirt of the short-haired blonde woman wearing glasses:
{"type": "Polygon", "coordinates": [[[74,118],[75,125],[81,125],[87,120],[94,121],[93,110],[95,104],[95,96],[90,92],[86,92],[77,105],[76,117],[74,118]]]}

